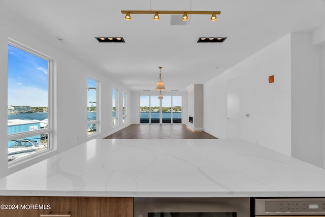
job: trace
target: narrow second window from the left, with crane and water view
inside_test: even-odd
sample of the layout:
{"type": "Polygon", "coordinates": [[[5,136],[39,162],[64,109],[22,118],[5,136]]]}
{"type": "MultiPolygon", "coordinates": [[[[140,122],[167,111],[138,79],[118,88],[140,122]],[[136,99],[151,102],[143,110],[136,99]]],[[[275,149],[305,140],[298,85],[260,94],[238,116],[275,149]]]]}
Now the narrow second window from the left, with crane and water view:
{"type": "Polygon", "coordinates": [[[87,78],[87,134],[88,136],[98,132],[98,81],[87,78]]]}

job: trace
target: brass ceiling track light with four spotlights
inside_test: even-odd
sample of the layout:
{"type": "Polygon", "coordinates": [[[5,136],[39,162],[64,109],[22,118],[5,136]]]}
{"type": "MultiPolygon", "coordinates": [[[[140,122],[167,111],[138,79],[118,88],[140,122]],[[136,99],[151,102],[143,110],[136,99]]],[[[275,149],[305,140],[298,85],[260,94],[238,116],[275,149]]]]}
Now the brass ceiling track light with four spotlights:
{"type": "Polygon", "coordinates": [[[220,14],[221,11],[121,11],[122,14],[125,15],[126,20],[131,20],[130,14],[154,14],[153,19],[159,20],[158,14],[183,14],[182,20],[186,21],[188,19],[188,14],[211,14],[211,21],[215,21],[217,19],[217,14],[220,14]]]}

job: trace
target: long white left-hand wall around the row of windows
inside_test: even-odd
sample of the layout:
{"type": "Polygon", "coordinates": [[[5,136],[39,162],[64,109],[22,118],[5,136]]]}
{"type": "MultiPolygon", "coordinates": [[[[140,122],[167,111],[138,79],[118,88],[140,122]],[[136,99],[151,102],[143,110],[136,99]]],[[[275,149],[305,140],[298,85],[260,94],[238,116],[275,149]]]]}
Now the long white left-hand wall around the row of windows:
{"type": "MultiPolygon", "coordinates": [[[[120,114],[122,109],[122,91],[127,94],[127,105],[131,105],[131,92],[122,85],[115,83],[103,74],[84,65],[74,57],[60,51],[57,46],[50,45],[27,29],[0,17],[0,143],[7,143],[7,80],[8,80],[8,38],[14,39],[26,46],[36,49],[56,60],[56,92],[57,105],[56,128],[54,134],[56,151],[38,157],[32,161],[8,169],[7,146],[0,146],[0,177],[27,167],[32,163],[46,159],[57,152],[74,147],[92,138],[104,138],[127,124],[122,124],[119,119],[119,127],[112,128],[112,87],[119,91],[120,114]],[[101,132],[92,137],[87,137],[87,75],[100,80],[100,115],[101,132]]],[[[37,33],[40,34],[40,33],[37,33]]],[[[58,42],[60,43],[60,42],[58,42]]],[[[130,116],[130,110],[127,116],[130,116]]]]}

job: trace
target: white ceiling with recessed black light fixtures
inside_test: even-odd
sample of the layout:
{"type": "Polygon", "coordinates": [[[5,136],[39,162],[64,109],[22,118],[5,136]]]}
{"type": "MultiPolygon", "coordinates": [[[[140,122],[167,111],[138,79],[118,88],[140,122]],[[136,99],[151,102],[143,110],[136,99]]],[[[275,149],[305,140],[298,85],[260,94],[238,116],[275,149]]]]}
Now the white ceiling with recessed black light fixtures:
{"type": "Polygon", "coordinates": [[[324,0],[0,0],[2,15],[70,53],[131,90],[154,90],[159,66],[166,89],[204,83],[290,32],[325,25],[324,0]],[[171,15],[121,10],[221,11],[190,15],[186,25],[170,25],[171,15]],[[61,43],[57,38],[67,43],[61,43]],[[99,43],[94,37],[123,37],[99,43]],[[197,43],[199,37],[227,37],[197,43]],[[218,69],[216,69],[218,68],[218,69]]]}

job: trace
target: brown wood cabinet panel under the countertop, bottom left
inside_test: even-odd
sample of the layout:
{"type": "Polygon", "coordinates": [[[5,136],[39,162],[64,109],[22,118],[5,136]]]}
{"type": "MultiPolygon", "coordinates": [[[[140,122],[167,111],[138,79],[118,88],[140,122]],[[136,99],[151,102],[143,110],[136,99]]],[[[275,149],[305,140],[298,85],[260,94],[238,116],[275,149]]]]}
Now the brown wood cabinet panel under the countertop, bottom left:
{"type": "Polygon", "coordinates": [[[0,196],[0,205],[0,217],[38,217],[50,211],[71,211],[72,217],[133,217],[133,198],[0,196]]]}

